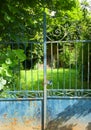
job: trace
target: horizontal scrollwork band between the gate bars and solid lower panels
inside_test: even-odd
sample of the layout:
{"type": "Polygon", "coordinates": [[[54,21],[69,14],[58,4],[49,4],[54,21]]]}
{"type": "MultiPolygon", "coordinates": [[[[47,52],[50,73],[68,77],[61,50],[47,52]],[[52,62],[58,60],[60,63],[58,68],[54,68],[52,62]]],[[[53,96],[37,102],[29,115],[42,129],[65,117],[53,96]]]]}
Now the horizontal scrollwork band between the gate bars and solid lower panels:
{"type": "MultiPolygon", "coordinates": [[[[10,91],[2,95],[2,98],[42,98],[44,91],[10,91]]],[[[47,89],[47,98],[89,98],[91,90],[88,89],[47,89]]]]}

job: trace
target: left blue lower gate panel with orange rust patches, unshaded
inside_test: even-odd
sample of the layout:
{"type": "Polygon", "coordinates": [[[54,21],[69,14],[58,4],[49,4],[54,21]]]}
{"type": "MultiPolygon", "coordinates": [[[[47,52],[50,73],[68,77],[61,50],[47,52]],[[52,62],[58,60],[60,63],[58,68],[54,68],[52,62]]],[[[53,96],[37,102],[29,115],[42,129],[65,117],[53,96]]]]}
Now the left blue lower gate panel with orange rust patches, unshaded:
{"type": "Polygon", "coordinates": [[[0,130],[41,130],[41,101],[0,102],[0,130]]]}

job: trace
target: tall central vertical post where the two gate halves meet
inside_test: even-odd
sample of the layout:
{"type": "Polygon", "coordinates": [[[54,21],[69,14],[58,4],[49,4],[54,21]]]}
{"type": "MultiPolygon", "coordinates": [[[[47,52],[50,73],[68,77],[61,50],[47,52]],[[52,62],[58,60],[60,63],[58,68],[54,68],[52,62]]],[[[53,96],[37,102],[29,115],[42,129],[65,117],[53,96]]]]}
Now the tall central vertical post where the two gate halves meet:
{"type": "Polygon", "coordinates": [[[47,55],[46,55],[46,12],[44,8],[43,16],[43,40],[44,40],[44,129],[46,128],[46,113],[47,113],[47,84],[46,84],[46,65],[47,65],[47,55]]]}

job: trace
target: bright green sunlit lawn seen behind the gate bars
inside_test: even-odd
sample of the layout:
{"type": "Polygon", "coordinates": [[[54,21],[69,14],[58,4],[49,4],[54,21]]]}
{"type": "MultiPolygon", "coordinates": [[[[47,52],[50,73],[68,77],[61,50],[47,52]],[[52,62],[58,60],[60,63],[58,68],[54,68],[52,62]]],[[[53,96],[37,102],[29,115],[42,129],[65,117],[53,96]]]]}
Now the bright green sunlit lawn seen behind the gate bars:
{"type": "MultiPolygon", "coordinates": [[[[17,82],[19,90],[43,90],[43,70],[21,70],[17,82]]],[[[88,88],[87,82],[81,81],[74,69],[47,69],[47,80],[52,80],[48,89],[82,89],[88,88]]]]}

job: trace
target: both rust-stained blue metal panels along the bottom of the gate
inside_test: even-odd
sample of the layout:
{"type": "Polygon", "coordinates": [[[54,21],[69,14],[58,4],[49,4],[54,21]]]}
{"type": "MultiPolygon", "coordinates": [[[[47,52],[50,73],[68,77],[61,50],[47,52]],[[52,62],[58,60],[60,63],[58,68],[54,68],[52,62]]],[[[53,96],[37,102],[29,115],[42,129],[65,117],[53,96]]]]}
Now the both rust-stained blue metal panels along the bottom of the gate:
{"type": "MultiPolygon", "coordinates": [[[[0,101],[0,130],[42,130],[42,101],[0,101]]],[[[91,99],[48,99],[46,130],[91,130],[91,99]]]]}

